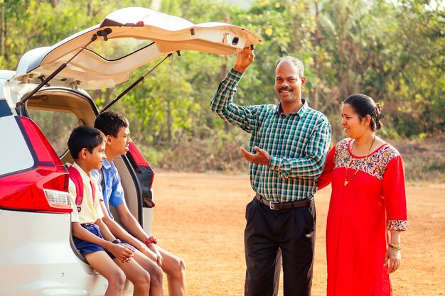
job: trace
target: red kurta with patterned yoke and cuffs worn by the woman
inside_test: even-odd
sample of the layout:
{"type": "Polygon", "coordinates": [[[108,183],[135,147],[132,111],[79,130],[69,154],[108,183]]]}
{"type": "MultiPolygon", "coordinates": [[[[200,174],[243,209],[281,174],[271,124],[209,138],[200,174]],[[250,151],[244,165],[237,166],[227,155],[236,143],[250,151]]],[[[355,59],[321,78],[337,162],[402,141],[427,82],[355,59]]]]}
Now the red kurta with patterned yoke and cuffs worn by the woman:
{"type": "Polygon", "coordinates": [[[343,139],[329,151],[318,180],[319,189],[332,182],[326,226],[327,295],[390,296],[390,277],[383,266],[388,231],[407,228],[403,160],[390,144],[367,158],[357,157],[350,153],[350,141],[343,139]]]}

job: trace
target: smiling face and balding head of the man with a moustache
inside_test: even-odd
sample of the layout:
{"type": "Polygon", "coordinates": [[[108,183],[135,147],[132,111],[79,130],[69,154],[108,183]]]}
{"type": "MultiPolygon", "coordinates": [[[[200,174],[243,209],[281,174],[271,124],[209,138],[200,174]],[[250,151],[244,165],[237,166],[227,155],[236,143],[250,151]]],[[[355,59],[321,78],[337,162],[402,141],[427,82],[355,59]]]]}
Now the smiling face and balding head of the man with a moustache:
{"type": "Polygon", "coordinates": [[[306,77],[299,77],[297,67],[289,61],[280,62],[275,70],[275,91],[283,104],[299,103],[306,77]]]}

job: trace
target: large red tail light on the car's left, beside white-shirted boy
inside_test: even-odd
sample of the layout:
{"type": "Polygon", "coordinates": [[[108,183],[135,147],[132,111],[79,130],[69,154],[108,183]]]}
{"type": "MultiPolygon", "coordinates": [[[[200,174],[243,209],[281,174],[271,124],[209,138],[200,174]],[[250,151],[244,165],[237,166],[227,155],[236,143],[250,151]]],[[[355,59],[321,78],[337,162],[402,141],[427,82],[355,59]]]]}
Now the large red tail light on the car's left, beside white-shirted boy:
{"type": "Polygon", "coordinates": [[[0,178],[0,207],[33,212],[70,213],[68,172],[48,139],[27,117],[18,125],[34,158],[31,169],[0,178]]]}

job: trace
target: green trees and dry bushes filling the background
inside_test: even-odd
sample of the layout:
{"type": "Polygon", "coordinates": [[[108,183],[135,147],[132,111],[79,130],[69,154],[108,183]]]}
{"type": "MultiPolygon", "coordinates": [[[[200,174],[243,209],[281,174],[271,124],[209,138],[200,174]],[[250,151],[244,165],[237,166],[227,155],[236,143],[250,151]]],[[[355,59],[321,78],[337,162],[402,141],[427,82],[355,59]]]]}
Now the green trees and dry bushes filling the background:
{"type": "MultiPolygon", "coordinates": [[[[343,99],[368,94],[384,106],[381,136],[406,153],[408,177],[421,177],[425,173],[412,172],[426,170],[445,181],[443,1],[257,0],[241,9],[210,0],[0,0],[0,68],[15,70],[27,50],[53,45],[127,6],[254,31],[264,42],[255,48],[255,62],[238,87],[238,104],[277,103],[274,63],[294,55],[306,66],[304,97],[330,119],[333,143],[343,137],[338,111],[343,99]],[[426,155],[429,150],[422,147],[431,138],[438,144],[428,146],[433,148],[426,155]]],[[[248,145],[249,135],[209,109],[218,82],[234,62],[235,55],[173,55],[112,107],[129,118],[132,138],[155,168],[246,170],[238,148],[248,145]]],[[[153,65],[114,89],[91,92],[99,108],[153,65]]]]}

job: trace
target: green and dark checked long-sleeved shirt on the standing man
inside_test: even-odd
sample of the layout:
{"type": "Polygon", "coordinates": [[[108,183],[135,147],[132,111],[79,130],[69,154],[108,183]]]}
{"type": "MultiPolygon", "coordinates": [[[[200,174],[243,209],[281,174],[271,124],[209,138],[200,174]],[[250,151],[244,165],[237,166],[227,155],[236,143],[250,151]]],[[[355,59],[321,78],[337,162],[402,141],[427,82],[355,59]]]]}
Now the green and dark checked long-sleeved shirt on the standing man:
{"type": "Polygon", "coordinates": [[[242,74],[230,70],[220,82],[210,107],[228,123],[252,133],[254,146],[271,155],[270,165],[250,163],[250,184],[255,192],[272,202],[291,202],[312,197],[323,171],[331,125],[307,102],[299,111],[284,115],[281,104],[239,106],[232,102],[242,74]]]}

